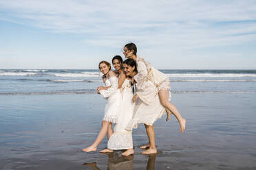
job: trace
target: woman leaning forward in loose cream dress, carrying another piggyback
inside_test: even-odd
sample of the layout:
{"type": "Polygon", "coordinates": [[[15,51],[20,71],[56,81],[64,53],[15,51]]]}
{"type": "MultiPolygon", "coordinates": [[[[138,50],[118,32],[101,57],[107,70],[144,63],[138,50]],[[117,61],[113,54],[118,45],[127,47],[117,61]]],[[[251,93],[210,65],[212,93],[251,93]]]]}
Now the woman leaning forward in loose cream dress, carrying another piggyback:
{"type": "MultiPolygon", "coordinates": [[[[123,62],[122,66],[126,75],[134,77],[137,74],[134,71],[136,69],[136,62],[134,60],[127,59],[123,62]]],[[[153,151],[151,150],[150,153],[142,151],[142,154],[156,154],[153,123],[162,117],[165,113],[165,108],[160,103],[158,88],[150,80],[145,83],[143,90],[137,88],[136,95],[138,95],[138,98],[136,100],[133,98],[133,101],[136,102],[134,115],[125,129],[131,131],[133,128],[137,128],[139,123],[144,123],[149,137],[149,149],[153,149],[153,151]]]]}

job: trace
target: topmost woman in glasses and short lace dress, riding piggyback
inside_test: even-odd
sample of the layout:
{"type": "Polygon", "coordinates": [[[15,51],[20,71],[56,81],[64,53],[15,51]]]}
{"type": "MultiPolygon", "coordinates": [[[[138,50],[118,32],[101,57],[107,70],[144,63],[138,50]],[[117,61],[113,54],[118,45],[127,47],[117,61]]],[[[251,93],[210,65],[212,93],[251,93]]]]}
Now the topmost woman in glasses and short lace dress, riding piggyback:
{"type": "MultiPolygon", "coordinates": [[[[153,66],[151,66],[151,64],[149,64],[149,62],[146,62],[144,58],[136,56],[137,47],[134,43],[129,43],[129,44],[125,45],[123,53],[125,55],[125,58],[131,58],[136,62],[138,74],[136,74],[134,76],[133,80],[136,81],[137,89],[140,91],[146,91],[148,82],[152,82],[157,88],[156,95],[158,95],[158,97],[159,97],[160,104],[162,104],[162,106],[164,106],[164,108],[167,109],[167,111],[169,112],[169,115],[170,115],[170,113],[174,114],[174,116],[176,117],[176,119],[178,119],[178,122],[180,123],[180,132],[183,132],[186,128],[186,120],[182,118],[178,109],[173,104],[171,104],[171,102],[169,102],[170,84],[169,84],[168,77],[166,75],[164,75],[164,73],[153,68],[153,66]]],[[[145,102],[146,104],[151,103],[151,101],[149,101],[149,99],[150,99],[149,95],[141,95],[139,93],[137,93],[134,96],[134,100],[136,100],[136,98],[139,95],[140,95],[140,99],[143,102],[145,102]]],[[[153,104],[153,103],[151,103],[151,104],[153,104]]],[[[167,120],[169,119],[169,115],[167,117],[167,120]]],[[[148,134],[154,134],[153,126],[149,127],[149,131],[150,132],[148,134]]],[[[149,149],[144,151],[143,154],[152,154],[152,153],[156,152],[156,149],[151,148],[151,143],[141,146],[142,149],[145,149],[147,147],[149,147],[149,149]]]]}

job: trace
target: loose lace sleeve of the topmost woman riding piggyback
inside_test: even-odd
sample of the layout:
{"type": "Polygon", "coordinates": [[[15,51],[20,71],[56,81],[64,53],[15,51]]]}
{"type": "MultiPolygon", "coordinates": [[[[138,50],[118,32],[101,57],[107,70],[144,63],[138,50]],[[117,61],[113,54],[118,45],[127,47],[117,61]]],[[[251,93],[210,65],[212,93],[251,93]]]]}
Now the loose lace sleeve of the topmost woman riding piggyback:
{"type": "Polygon", "coordinates": [[[137,71],[138,73],[134,75],[134,80],[137,82],[137,88],[143,89],[145,88],[145,82],[147,82],[147,66],[144,62],[137,62],[137,71]]]}

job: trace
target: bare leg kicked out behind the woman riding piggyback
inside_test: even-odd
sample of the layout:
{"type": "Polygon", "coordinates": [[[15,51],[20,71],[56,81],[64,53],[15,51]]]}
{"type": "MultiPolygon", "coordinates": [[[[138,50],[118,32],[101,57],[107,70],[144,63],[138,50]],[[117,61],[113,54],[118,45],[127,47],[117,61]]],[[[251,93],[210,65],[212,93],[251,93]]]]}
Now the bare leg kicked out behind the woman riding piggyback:
{"type": "Polygon", "coordinates": [[[171,102],[168,101],[169,91],[160,89],[158,95],[162,106],[164,106],[164,108],[169,109],[174,114],[176,119],[179,121],[180,132],[182,133],[186,129],[186,119],[183,119],[178,109],[173,104],[171,104],[171,102]]]}

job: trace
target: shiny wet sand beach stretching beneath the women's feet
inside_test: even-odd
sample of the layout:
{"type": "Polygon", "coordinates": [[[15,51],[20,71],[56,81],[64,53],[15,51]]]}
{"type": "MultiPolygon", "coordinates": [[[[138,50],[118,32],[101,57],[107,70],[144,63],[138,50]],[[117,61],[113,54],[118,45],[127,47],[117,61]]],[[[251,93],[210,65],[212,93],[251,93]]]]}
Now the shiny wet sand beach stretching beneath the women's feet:
{"type": "MultiPolygon", "coordinates": [[[[140,154],[144,125],[134,130],[134,156],[85,153],[100,130],[105,99],[85,95],[1,95],[0,169],[256,169],[255,94],[173,94],[186,118],[155,123],[158,154],[140,154]]],[[[107,138],[98,150],[107,146],[107,138]]]]}

